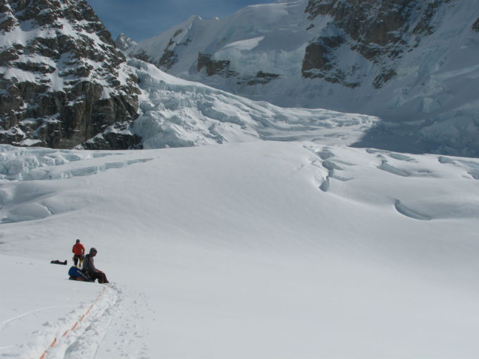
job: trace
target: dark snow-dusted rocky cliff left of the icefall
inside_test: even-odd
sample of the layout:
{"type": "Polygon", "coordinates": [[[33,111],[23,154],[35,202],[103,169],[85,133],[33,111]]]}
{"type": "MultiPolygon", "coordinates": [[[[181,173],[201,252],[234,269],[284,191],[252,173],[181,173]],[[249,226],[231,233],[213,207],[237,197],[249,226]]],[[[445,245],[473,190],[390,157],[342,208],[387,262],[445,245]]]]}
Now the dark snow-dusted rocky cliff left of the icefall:
{"type": "Polygon", "coordinates": [[[137,77],[86,1],[1,1],[0,75],[2,143],[139,146],[137,77]]]}

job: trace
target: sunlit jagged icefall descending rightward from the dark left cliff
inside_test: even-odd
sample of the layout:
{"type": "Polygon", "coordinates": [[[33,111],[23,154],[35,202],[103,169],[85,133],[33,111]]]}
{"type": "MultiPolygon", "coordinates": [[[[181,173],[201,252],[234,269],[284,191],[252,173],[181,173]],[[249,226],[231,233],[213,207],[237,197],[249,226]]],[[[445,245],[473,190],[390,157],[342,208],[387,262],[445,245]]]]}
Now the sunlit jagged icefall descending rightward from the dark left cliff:
{"type": "Polygon", "coordinates": [[[280,108],[195,82],[180,80],[151,64],[137,68],[142,115],[132,125],[145,149],[247,142],[312,140],[350,144],[378,118],[305,108],[280,108]]]}

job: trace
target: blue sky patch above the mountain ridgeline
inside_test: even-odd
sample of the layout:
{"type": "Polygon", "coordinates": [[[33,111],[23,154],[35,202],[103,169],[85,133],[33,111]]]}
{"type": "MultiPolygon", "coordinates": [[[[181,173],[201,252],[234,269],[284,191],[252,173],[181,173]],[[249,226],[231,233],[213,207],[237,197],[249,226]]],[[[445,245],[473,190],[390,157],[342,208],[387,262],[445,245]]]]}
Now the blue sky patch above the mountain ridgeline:
{"type": "Polygon", "coordinates": [[[275,0],[87,0],[113,40],[120,32],[139,42],[185,21],[191,15],[225,18],[244,6],[275,0]]]}

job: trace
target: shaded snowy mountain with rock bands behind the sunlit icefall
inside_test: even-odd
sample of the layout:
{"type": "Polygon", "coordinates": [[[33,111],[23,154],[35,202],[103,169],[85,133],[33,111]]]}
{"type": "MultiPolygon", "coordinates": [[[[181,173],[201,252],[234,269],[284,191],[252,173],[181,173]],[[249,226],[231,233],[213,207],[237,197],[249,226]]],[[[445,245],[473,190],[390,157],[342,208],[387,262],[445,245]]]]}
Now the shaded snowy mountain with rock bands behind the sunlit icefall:
{"type": "Polygon", "coordinates": [[[279,106],[377,115],[358,145],[479,156],[475,0],[299,0],[192,16],[127,49],[279,106]]]}

